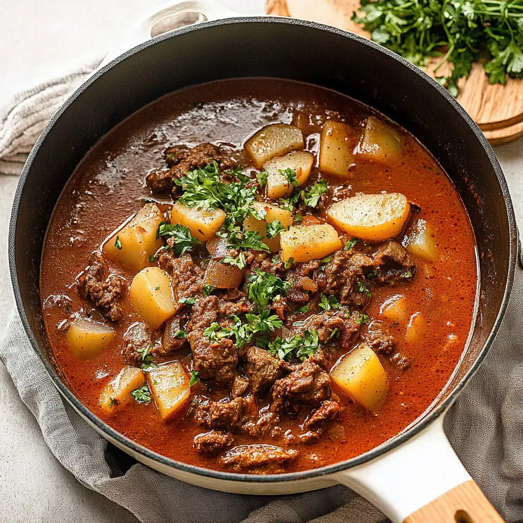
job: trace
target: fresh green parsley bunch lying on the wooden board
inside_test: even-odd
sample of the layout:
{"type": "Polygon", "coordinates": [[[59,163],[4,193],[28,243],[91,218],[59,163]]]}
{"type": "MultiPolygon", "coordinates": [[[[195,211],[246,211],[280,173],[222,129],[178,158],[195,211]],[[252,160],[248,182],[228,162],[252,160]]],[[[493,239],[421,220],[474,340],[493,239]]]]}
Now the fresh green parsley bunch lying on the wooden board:
{"type": "Polygon", "coordinates": [[[442,56],[437,72],[450,62],[452,71],[436,79],[453,96],[459,79],[483,59],[491,84],[505,84],[507,74],[522,76],[522,0],[361,0],[360,10],[363,15],[352,19],[372,40],[413,64],[424,67],[442,56]]]}

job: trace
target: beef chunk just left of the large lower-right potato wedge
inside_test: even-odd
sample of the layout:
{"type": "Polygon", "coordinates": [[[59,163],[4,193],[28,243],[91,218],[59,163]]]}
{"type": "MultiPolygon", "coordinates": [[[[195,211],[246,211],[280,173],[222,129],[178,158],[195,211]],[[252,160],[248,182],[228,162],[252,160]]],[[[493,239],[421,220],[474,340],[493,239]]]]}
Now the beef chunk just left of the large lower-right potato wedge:
{"type": "Polygon", "coordinates": [[[320,405],[331,397],[331,378],[316,363],[305,360],[286,378],[281,378],[270,390],[270,412],[281,414],[294,403],[320,405]]]}

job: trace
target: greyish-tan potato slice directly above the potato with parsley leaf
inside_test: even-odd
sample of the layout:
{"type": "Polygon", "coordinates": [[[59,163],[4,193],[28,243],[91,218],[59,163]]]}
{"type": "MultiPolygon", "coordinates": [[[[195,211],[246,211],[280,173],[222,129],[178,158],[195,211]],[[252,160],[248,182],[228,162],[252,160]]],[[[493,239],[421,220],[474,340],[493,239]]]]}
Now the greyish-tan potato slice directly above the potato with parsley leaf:
{"type": "Polygon", "coordinates": [[[245,150],[253,159],[254,166],[261,169],[275,156],[303,149],[303,133],[288,123],[273,123],[260,129],[245,142],[245,150]]]}

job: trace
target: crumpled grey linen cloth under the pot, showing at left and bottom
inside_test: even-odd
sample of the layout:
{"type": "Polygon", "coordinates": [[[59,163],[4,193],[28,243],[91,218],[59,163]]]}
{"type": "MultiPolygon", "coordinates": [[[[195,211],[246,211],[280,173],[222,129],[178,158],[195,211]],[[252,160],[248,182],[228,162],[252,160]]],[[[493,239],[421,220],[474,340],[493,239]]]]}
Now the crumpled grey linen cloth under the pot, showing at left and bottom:
{"type": "MultiPolygon", "coordinates": [[[[20,93],[0,109],[0,173],[19,173],[47,120],[96,63],[20,93]]],[[[502,329],[445,420],[458,456],[508,522],[523,521],[522,300],[523,270],[518,267],[502,329]]],[[[16,311],[0,338],[0,360],[63,466],[145,523],[386,521],[370,503],[341,485],[289,496],[242,496],[183,483],[127,457],[62,399],[16,311]]]]}

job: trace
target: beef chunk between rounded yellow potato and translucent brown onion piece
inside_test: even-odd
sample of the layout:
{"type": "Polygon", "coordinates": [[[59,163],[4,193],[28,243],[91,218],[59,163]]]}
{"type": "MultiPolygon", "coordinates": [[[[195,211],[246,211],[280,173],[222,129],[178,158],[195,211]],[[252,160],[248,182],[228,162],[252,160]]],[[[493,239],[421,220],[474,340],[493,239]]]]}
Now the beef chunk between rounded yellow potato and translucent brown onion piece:
{"type": "Polygon", "coordinates": [[[203,270],[188,253],[175,258],[170,251],[162,251],[158,265],[173,276],[173,289],[178,300],[196,298],[203,292],[203,270]]]}

